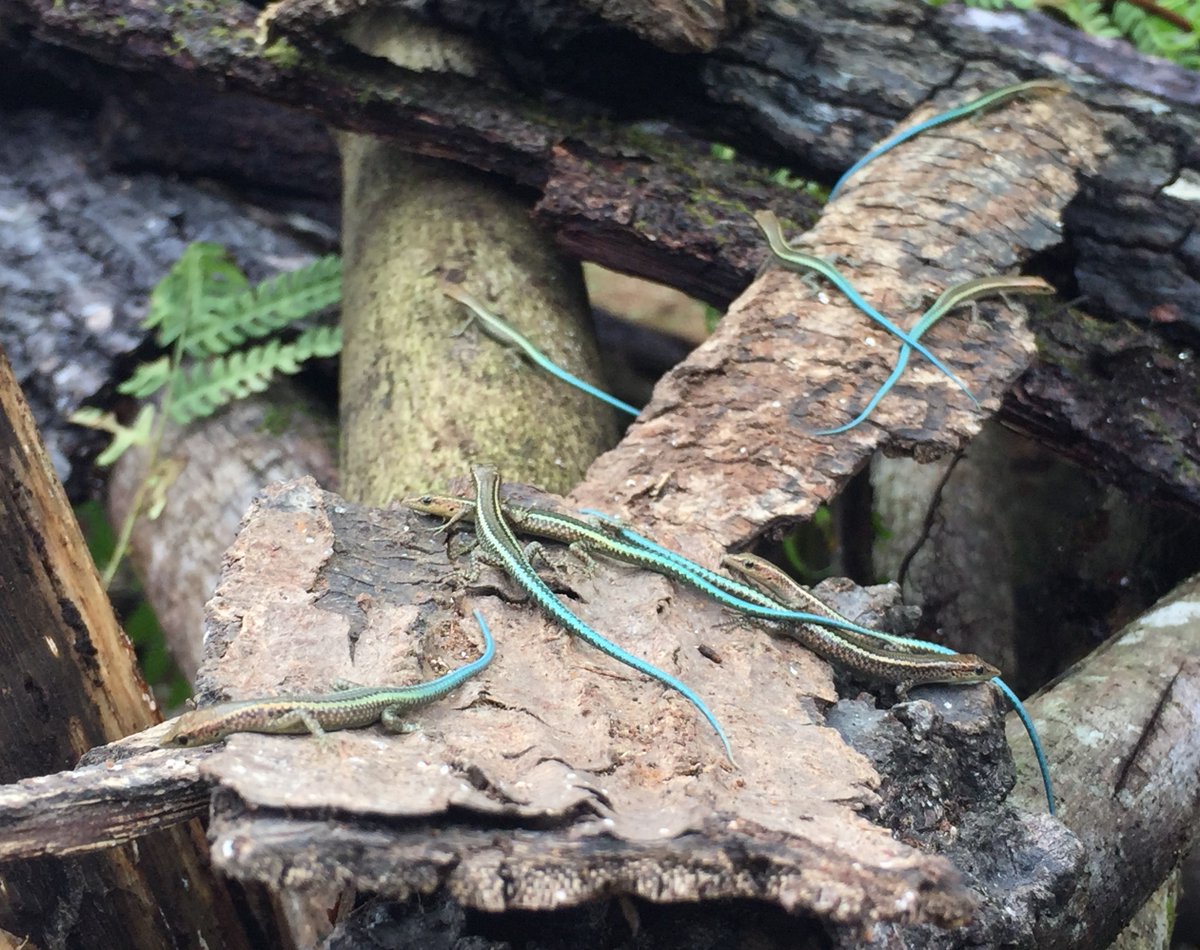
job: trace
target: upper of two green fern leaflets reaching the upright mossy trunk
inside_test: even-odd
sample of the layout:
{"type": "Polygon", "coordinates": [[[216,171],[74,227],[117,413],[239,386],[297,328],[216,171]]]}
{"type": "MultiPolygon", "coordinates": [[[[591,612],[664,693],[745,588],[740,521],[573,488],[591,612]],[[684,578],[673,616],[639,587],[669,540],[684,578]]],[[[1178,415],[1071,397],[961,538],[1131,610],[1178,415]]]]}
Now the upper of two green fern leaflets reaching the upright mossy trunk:
{"type": "Polygon", "coordinates": [[[229,353],[247,339],[270,336],[301,317],[336,303],[341,295],[341,258],[317,258],[224,299],[188,333],[188,353],[210,356],[229,353]]]}

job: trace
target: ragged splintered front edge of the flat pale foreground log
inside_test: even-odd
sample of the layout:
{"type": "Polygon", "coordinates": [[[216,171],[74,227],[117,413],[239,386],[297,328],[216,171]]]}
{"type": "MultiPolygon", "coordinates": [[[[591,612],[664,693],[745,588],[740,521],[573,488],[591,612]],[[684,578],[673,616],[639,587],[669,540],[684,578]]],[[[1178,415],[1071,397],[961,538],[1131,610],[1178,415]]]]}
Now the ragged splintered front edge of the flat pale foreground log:
{"type": "Polygon", "coordinates": [[[547,910],[613,894],[654,902],[762,900],[854,925],[954,927],[974,910],[974,897],[948,862],[859,865],[736,819],[703,834],[637,844],[462,823],[385,828],[305,820],[248,810],[222,792],[210,835],[214,862],[246,880],[304,889],[353,879],[395,898],[446,886],[464,906],[487,912],[547,910]]]}

